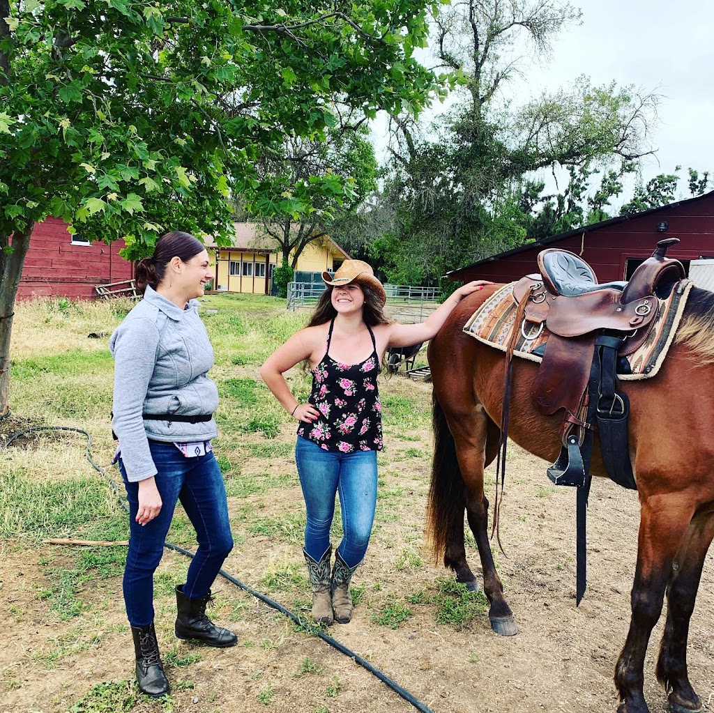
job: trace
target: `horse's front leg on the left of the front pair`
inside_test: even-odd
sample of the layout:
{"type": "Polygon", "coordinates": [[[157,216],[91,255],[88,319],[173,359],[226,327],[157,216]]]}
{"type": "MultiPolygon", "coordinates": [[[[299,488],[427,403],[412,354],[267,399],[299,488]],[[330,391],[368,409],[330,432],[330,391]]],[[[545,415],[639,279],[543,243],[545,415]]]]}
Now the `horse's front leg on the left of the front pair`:
{"type": "Polygon", "coordinates": [[[615,664],[618,713],[649,713],[643,694],[645,652],[662,612],[672,563],[693,514],[688,502],[691,501],[685,498],[653,496],[643,499],[640,508],[632,618],[625,646],[615,664]]]}

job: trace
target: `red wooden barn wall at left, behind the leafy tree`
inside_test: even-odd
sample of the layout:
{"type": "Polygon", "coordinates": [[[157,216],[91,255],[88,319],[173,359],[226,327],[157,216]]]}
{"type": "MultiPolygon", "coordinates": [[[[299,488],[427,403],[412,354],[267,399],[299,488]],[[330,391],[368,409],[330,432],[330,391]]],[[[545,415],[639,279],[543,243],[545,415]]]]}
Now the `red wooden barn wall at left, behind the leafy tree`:
{"type": "Polygon", "coordinates": [[[119,256],[123,247],[124,241],[89,243],[81,235],[71,236],[64,221],[48,218],[32,232],[17,297],[93,299],[95,285],[134,277],[133,264],[119,256]]]}

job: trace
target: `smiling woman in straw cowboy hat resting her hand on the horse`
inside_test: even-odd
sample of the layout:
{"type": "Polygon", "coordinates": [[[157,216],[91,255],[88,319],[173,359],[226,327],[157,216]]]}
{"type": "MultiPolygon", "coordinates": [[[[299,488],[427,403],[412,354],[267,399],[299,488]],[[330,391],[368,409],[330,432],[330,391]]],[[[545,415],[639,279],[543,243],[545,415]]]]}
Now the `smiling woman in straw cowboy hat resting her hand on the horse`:
{"type": "Polygon", "coordinates": [[[346,260],[333,277],[305,329],[266,360],[261,377],[298,420],[295,460],[307,509],[305,547],[313,590],[313,616],[346,624],[352,613],[349,585],[362,561],[377,502],[377,451],[382,450],[379,365],[390,347],[433,338],[448,314],[483,281],[463,285],[428,319],[399,324],[383,312],[386,295],[372,268],[346,260]],[[313,375],[308,403],[299,403],[283,373],[306,360],[313,375]],[[330,527],[340,494],[343,539],[331,569],[330,527]]]}

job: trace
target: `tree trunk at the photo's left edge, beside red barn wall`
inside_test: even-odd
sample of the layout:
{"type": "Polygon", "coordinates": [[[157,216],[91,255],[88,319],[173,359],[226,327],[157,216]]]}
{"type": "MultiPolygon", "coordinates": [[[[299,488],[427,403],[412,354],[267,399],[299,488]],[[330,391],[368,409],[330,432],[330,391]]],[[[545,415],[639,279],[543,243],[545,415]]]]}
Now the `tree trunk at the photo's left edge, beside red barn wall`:
{"type": "Polygon", "coordinates": [[[12,236],[12,251],[0,260],[0,415],[10,408],[10,335],[15,297],[34,223],[12,236]]]}

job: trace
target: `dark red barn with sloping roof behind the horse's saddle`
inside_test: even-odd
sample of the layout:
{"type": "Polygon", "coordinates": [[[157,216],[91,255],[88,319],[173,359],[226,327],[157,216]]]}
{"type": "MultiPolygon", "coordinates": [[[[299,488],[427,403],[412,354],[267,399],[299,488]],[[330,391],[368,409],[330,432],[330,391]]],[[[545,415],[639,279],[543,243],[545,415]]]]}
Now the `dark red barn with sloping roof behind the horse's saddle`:
{"type": "Polygon", "coordinates": [[[680,238],[681,242],[670,248],[667,255],[678,258],[685,270],[691,260],[714,257],[714,191],[559,233],[453,270],[448,277],[465,282],[513,282],[538,272],[535,258],[544,248],[563,248],[583,258],[595,270],[599,282],[628,280],[663,238],[680,238]]]}

